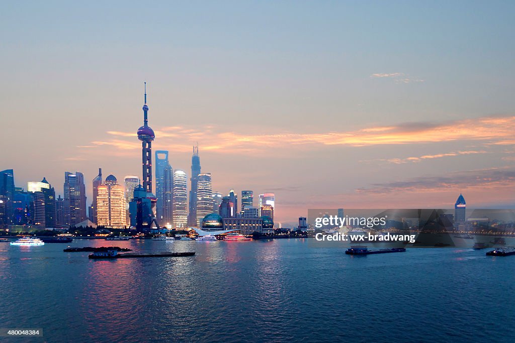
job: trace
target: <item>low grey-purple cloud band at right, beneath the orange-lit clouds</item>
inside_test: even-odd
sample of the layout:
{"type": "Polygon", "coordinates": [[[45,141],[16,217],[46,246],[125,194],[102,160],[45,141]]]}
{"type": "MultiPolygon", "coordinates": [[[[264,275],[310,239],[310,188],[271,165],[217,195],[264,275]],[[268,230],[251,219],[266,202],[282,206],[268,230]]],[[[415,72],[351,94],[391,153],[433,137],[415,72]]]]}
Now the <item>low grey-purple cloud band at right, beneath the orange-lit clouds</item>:
{"type": "Polygon", "coordinates": [[[489,168],[448,173],[444,176],[416,177],[405,181],[372,184],[368,188],[358,188],[358,193],[387,194],[399,192],[441,192],[449,188],[488,189],[495,187],[515,187],[515,169],[489,168]]]}

